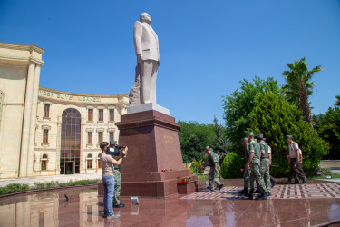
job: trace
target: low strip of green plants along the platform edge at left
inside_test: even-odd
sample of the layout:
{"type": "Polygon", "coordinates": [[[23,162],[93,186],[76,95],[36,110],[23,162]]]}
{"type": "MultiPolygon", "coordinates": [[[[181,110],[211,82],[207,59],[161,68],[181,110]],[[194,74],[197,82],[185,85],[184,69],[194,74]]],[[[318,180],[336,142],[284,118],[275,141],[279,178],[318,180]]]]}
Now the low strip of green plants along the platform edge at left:
{"type": "Polygon", "coordinates": [[[0,195],[17,193],[17,192],[28,192],[28,191],[33,191],[33,190],[90,185],[90,184],[97,184],[101,181],[102,181],[102,179],[81,180],[81,181],[75,181],[75,182],[70,181],[70,182],[67,182],[67,183],[59,183],[59,182],[34,183],[34,186],[29,186],[26,183],[22,183],[22,184],[11,183],[11,184],[6,185],[5,187],[0,187],[0,195]]]}

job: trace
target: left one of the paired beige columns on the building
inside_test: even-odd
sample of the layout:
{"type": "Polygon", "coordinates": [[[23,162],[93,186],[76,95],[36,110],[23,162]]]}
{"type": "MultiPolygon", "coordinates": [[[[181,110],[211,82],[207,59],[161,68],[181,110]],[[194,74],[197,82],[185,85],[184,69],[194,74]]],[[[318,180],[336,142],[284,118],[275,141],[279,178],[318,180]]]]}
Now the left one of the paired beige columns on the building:
{"type": "Polygon", "coordinates": [[[34,85],[34,71],[35,64],[29,62],[27,82],[26,82],[26,94],[24,98],[24,123],[23,133],[21,141],[21,152],[20,152],[20,172],[19,177],[26,176],[27,172],[27,158],[28,158],[28,145],[29,145],[29,134],[30,134],[30,121],[32,114],[32,94],[34,85]]]}

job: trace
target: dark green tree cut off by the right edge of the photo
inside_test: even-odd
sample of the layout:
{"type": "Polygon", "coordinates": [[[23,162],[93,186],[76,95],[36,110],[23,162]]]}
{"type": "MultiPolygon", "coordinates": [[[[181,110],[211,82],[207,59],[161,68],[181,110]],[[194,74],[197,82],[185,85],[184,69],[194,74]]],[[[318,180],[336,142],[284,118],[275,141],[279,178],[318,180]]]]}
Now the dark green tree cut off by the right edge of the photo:
{"type": "Polygon", "coordinates": [[[330,143],[331,148],[329,154],[326,156],[328,159],[340,159],[340,108],[329,107],[322,119],[318,133],[326,142],[330,143]]]}

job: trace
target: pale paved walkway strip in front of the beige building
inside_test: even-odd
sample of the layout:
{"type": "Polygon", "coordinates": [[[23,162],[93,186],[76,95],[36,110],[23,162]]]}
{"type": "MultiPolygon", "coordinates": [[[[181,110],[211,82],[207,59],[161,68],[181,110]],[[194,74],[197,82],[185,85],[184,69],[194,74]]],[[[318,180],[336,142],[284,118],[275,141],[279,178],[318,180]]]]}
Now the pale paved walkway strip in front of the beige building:
{"type": "Polygon", "coordinates": [[[50,183],[50,182],[67,183],[70,181],[75,182],[81,180],[94,180],[100,178],[102,178],[102,173],[12,178],[0,180],[0,187],[5,187],[10,183],[18,184],[27,183],[30,186],[34,186],[34,183],[50,183]]]}

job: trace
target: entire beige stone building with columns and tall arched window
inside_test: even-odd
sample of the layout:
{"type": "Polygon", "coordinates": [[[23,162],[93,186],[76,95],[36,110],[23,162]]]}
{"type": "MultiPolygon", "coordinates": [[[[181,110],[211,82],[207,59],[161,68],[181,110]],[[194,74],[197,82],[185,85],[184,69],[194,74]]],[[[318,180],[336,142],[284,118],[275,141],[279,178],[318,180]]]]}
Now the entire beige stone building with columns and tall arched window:
{"type": "Polygon", "coordinates": [[[99,143],[118,141],[129,96],[39,87],[43,53],[0,43],[0,178],[101,173],[99,143]]]}

